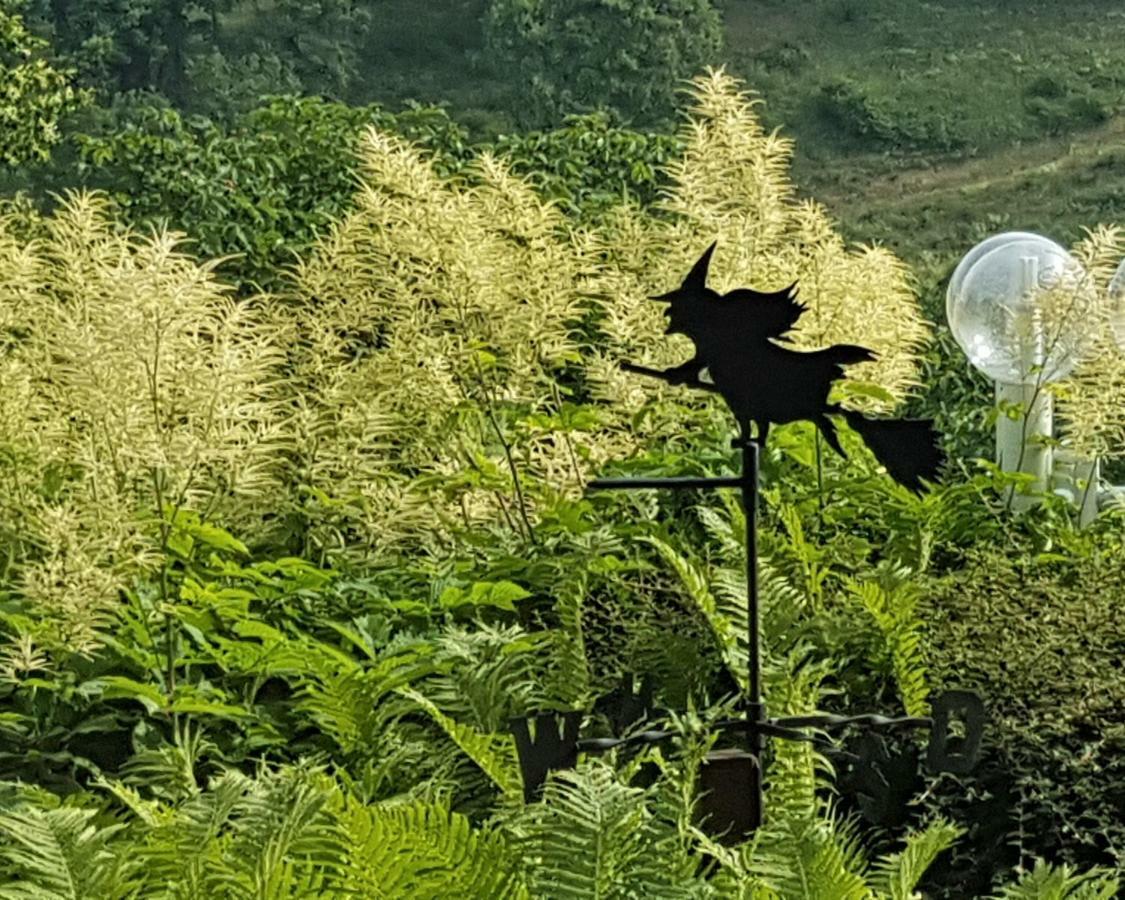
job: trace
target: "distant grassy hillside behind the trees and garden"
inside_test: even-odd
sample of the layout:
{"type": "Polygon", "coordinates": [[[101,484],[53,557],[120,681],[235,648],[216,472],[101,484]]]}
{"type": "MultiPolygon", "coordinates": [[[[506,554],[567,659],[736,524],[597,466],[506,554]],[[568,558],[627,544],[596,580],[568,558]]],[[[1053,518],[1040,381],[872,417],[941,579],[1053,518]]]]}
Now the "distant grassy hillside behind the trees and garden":
{"type": "MultiPolygon", "coordinates": [[[[511,127],[482,0],[387,0],[369,99],[511,127]]],[[[796,138],[798,183],[924,269],[1007,227],[1120,217],[1125,9],[1110,2],[724,0],[724,58],[796,138]]],[[[944,263],[938,263],[942,268],[944,263]]]]}

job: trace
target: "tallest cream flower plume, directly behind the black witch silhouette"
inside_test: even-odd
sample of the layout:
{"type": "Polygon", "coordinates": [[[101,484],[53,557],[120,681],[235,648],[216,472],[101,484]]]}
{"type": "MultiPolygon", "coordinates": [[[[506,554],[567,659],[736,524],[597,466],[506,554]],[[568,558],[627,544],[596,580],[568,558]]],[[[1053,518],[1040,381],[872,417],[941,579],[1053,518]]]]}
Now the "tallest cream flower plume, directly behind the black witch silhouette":
{"type": "Polygon", "coordinates": [[[613,361],[622,349],[649,363],[688,356],[686,344],[669,351],[670,342],[659,339],[663,308],[645,298],[678,285],[717,241],[710,287],[776,290],[798,281],[809,312],[794,344],[874,350],[879,360],[849,375],[879,389],[854,393],[848,403],[890,412],[917,386],[918,352],[930,339],[906,266],[881,248],[848,248],[822,207],[796,198],[789,179],[791,142],[765,130],[757,100],[735,79],[712,71],[693,82],[691,97],[682,129],[686,148],[668,170],[672,186],[662,204],[667,215],[622,210],[601,235],[597,250],[613,263],[598,291],[610,298],[612,343],[596,363],[608,393],[639,397],[629,386],[636,378],[620,374],[613,361]]]}

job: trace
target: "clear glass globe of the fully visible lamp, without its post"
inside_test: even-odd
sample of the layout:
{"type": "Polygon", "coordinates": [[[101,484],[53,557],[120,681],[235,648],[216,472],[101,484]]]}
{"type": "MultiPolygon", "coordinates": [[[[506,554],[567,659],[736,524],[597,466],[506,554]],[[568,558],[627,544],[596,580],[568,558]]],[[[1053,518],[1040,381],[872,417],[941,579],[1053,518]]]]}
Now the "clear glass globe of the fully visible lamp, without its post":
{"type": "Polygon", "coordinates": [[[970,362],[996,381],[1064,378],[1095,338],[1097,291],[1052,241],[1015,240],[981,255],[951,297],[950,328],[970,362]]]}

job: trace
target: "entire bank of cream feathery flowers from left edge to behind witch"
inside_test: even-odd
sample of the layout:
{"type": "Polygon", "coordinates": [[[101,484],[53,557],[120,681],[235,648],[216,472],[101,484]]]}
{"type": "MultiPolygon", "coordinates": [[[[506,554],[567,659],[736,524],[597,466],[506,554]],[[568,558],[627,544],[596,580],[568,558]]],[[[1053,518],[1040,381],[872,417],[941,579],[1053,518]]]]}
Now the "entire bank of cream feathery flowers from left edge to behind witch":
{"type": "Polygon", "coordinates": [[[248,539],[284,523],[318,560],[447,552],[466,528],[533,540],[608,461],[726,421],[619,368],[685,358],[646,296],[717,238],[714,287],[799,279],[799,343],[872,346],[854,377],[879,390],[856,402],[900,400],[928,333],[901,263],[796,199],[789,143],[732,79],[693,97],[662,209],[596,230],[488,154],[449,179],[370,130],[353,212],[286,297],[236,299],[96,197],[32,243],[0,223],[0,511],[25,592],[94,640],[125,575],[160,565],[168,506],[248,539]]]}

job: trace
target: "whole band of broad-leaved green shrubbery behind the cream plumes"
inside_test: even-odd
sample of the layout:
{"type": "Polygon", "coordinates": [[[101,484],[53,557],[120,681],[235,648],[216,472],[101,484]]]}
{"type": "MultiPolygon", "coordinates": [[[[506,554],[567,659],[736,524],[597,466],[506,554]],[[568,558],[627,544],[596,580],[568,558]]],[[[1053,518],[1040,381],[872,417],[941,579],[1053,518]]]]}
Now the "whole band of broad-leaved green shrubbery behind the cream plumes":
{"type": "Polygon", "coordinates": [[[297,254],[353,208],[366,127],[414,142],[443,174],[471,177],[468,163],[492,150],[580,220],[628,201],[652,207],[666,183],[663,166],[681,147],[674,135],[616,127],[605,116],[472,145],[438,107],[390,112],[316,98],[274,98],[227,125],[146,104],[101,119],[72,134],[54,165],[36,173],[33,196],[105,191],[130,225],[189,235],[192,251],[222,260],[218,271],[242,290],[280,288],[297,254]]]}

